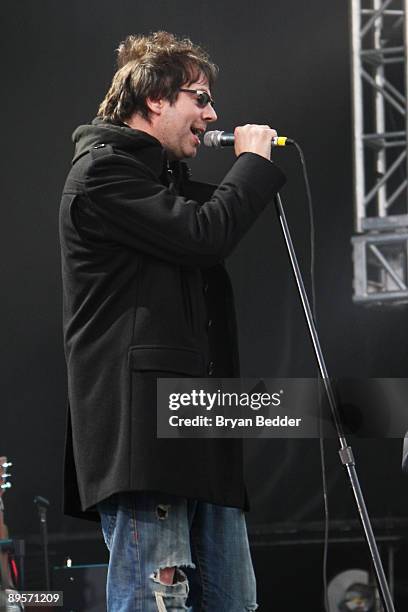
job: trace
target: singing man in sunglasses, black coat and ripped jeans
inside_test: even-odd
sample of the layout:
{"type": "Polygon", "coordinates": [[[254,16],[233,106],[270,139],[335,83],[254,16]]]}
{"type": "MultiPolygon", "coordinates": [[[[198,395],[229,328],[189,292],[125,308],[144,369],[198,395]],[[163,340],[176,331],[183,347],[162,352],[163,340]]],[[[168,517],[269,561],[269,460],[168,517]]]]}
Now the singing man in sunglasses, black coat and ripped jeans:
{"type": "Polygon", "coordinates": [[[284,184],[269,126],[235,129],[218,188],[190,180],[216,66],[129,36],[60,212],[69,415],[65,509],[101,519],[110,612],[255,610],[240,440],[157,439],[156,378],[238,376],[224,258],[284,184]]]}

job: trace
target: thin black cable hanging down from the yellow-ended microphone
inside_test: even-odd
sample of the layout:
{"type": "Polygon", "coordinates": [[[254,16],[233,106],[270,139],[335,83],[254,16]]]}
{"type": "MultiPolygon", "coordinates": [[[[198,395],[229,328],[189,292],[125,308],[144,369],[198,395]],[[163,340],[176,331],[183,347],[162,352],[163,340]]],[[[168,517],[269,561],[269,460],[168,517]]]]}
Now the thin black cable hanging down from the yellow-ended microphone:
{"type": "MultiPolygon", "coordinates": [[[[302,148],[300,145],[293,139],[290,139],[290,144],[292,144],[300,157],[300,161],[302,164],[303,171],[303,180],[306,188],[306,196],[308,203],[308,212],[309,212],[309,235],[310,235],[310,291],[311,291],[311,304],[312,304],[312,313],[315,325],[317,324],[317,312],[316,312],[316,282],[315,282],[315,223],[314,223],[314,214],[313,214],[313,204],[312,204],[312,193],[310,190],[309,177],[307,174],[306,161],[305,156],[303,154],[302,148]]],[[[321,398],[320,398],[321,399],[321,398]]],[[[319,402],[321,407],[321,401],[319,402]]],[[[320,413],[320,417],[321,417],[320,413]]],[[[320,427],[320,436],[319,436],[319,451],[320,451],[320,464],[322,470],[322,490],[323,490],[323,505],[324,505],[324,547],[323,547],[323,592],[324,592],[324,608],[326,612],[329,612],[329,597],[328,597],[328,587],[327,587],[327,558],[328,558],[328,549],[329,549],[329,498],[327,492],[327,471],[326,471],[326,459],[324,453],[324,437],[322,432],[322,418],[319,418],[319,427],[320,427]]]]}

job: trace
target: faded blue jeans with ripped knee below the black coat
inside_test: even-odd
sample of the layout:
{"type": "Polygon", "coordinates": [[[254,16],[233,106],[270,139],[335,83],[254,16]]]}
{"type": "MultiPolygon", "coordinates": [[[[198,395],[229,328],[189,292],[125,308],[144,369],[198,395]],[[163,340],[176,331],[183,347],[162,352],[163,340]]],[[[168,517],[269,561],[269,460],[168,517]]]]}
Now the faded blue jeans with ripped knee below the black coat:
{"type": "Polygon", "coordinates": [[[257,609],[242,510],[161,493],[98,504],[110,551],[108,612],[257,609]],[[160,570],[173,568],[173,584],[160,570]]]}

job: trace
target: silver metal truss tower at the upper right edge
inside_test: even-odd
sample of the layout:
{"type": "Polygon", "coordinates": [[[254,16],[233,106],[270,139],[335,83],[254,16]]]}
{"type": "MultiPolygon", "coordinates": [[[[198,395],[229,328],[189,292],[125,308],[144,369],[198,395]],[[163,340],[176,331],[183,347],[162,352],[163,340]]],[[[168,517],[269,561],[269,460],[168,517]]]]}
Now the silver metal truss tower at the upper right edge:
{"type": "Polygon", "coordinates": [[[408,301],[408,0],[350,0],[354,301],[408,301]]]}

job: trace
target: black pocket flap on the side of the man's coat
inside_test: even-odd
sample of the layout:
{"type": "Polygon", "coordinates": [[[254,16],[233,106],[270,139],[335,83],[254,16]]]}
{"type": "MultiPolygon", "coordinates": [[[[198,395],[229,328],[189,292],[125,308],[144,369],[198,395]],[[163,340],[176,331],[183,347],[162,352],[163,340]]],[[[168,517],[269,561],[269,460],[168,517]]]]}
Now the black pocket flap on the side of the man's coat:
{"type": "Polygon", "coordinates": [[[172,346],[131,346],[129,366],[132,370],[174,372],[203,376],[203,359],[198,351],[172,346]]]}

